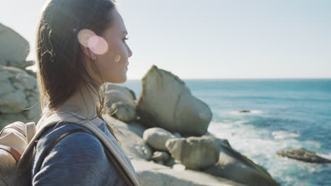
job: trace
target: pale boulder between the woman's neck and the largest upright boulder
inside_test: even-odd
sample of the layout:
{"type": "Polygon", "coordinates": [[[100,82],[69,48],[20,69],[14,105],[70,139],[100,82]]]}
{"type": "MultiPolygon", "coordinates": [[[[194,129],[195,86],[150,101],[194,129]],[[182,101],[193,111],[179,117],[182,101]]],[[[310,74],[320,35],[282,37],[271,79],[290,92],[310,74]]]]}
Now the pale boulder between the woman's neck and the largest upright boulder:
{"type": "Polygon", "coordinates": [[[127,87],[111,83],[106,84],[106,89],[105,113],[124,122],[137,120],[134,92],[127,87]]]}

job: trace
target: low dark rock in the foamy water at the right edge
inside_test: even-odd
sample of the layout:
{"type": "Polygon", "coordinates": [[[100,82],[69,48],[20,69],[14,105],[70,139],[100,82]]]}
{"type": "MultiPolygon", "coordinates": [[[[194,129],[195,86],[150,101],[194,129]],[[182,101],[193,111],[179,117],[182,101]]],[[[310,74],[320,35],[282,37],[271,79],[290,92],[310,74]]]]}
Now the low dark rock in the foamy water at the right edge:
{"type": "Polygon", "coordinates": [[[306,149],[284,149],[282,151],[278,151],[277,155],[299,161],[306,161],[309,163],[331,163],[330,156],[323,156],[323,154],[318,154],[306,149]]]}

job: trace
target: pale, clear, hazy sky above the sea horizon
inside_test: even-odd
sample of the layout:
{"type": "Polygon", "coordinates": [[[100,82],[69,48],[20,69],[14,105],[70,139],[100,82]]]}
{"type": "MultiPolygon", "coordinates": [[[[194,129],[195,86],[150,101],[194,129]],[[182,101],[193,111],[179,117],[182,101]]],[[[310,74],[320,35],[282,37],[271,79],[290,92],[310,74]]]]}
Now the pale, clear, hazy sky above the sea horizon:
{"type": "MultiPolygon", "coordinates": [[[[30,43],[45,0],[0,2],[30,43]]],[[[155,65],[182,79],[331,78],[329,0],[117,0],[133,51],[128,79],[155,65]]]]}

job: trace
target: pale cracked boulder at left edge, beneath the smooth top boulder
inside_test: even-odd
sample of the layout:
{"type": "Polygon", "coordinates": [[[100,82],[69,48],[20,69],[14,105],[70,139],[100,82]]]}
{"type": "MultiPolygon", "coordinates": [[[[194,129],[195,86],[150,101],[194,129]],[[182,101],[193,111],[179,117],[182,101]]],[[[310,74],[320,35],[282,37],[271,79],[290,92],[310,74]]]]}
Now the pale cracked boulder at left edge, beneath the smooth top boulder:
{"type": "Polygon", "coordinates": [[[0,66],[0,128],[8,123],[37,121],[40,104],[37,80],[24,70],[0,66]]]}

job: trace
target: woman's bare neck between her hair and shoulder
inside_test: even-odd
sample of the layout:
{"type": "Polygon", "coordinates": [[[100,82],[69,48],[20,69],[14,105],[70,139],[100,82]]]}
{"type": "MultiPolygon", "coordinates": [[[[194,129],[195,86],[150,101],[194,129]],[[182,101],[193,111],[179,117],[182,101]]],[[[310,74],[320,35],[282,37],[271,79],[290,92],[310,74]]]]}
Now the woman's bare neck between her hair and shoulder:
{"type": "Polygon", "coordinates": [[[63,104],[57,107],[57,111],[74,112],[86,119],[97,117],[96,104],[98,95],[86,86],[81,86],[71,97],[66,99],[63,104]]]}

